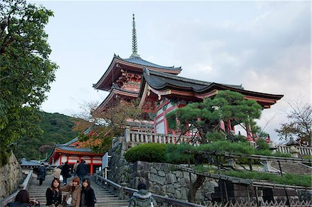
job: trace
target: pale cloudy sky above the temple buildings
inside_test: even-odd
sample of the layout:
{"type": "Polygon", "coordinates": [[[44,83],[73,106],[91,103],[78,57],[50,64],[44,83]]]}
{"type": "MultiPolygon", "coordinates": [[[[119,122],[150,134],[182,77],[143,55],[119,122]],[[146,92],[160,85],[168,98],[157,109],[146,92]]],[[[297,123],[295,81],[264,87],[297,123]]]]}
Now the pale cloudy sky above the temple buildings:
{"type": "Polygon", "coordinates": [[[311,1],[31,1],[53,10],[46,26],[60,69],[42,110],[73,115],[101,102],[96,83],[114,53],[131,55],[132,13],[138,53],[180,76],[283,94],[259,120],[272,139],[288,102],[311,103],[311,1]]]}

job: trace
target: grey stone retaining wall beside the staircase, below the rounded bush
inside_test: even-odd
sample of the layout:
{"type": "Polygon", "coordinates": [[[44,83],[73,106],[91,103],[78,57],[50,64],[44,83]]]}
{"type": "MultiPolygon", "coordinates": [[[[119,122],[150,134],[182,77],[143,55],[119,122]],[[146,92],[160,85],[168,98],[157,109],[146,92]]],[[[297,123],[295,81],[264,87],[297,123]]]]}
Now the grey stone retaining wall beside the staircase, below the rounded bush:
{"type": "MultiPolygon", "coordinates": [[[[108,179],[116,183],[126,183],[129,188],[137,189],[139,182],[146,183],[150,192],[175,199],[187,201],[190,190],[190,174],[177,170],[175,165],[168,163],[146,163],[137,161],[128,163],[123,159],[127,143],[120,143],[110,151],[110,172],[108,179]]],[[[191,180],[196,180],[196,174],[191,174],[191,180]]],[[[211,200],[218,183],[208,178],[196,193],[196,201],[205,202],[211,200]]]]}

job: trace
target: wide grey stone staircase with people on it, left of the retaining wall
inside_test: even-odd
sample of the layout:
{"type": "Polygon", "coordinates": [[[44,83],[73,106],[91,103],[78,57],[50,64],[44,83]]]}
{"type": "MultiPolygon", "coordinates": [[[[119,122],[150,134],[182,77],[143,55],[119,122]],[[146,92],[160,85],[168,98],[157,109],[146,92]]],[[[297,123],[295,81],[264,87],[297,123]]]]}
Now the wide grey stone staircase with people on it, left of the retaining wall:
{"type": "MultiPolygon", "coordinates": [[[[40,201],[40,206],[46,205],[46,189],[51,186],[52,180],[52,175],[48,175],[42,186],[39,186],[37,176],[33,177],[31,180],[31,184],[28,188],[29,196],[31,199],[37,199],[38,201],[40,201]]],[[[95,206],[127,207],[129,205],[128,200],[119,199],[119,197],[115,193],[112,193],[107,190],[107,188],[101,187],[96,184],[92,177],[90,178],[90,180],[97,200],[95,206]]],[[[63,192],[62,195],[66,195],[66,192],[63,192]]]]}

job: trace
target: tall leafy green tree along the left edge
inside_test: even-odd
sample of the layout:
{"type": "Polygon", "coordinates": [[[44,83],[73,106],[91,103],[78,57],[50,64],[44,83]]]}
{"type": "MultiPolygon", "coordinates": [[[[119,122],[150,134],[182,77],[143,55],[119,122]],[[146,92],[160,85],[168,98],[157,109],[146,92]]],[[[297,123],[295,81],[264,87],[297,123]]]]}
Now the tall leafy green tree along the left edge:
{"type": "Polygon", "coordinates": [[[40,132],[36,110],[46,98],[58,66],[49,60],[51,49],[44,26],[51,10],[26,0],[0,3],[0,165],[11,143],[40,132]]]}

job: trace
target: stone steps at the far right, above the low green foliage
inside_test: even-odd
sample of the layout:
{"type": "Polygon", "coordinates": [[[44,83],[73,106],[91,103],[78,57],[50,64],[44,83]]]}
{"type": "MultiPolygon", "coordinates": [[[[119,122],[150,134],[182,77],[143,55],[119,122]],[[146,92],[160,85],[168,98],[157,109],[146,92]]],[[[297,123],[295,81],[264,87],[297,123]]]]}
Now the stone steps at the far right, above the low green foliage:
{"type": "MultiPolygon", "coordinates": [[[[308,166],[302,165],[300,163],[284,163],[280,162],[281,164],[281,171],[286,173],[293,173],[293,174],[311,174],[312,169],[308,166]]],[[[277,161],[272,161],[271,166],[277,170],[279,170],[279,163],[277,161]]]]}

